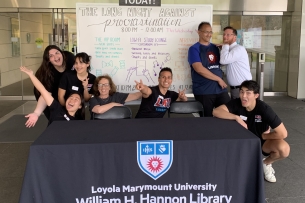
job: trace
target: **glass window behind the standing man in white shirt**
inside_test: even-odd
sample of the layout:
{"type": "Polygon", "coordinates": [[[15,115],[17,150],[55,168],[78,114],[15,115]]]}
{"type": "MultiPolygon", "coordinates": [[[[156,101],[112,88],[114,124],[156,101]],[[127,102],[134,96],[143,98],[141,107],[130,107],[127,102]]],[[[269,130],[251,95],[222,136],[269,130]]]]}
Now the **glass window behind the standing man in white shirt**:
{"type": "Polygon", "coordinates": [[[288,47],[288,40],[283,39],[289,36],[282,32],[282,18],[283,16],[213,16],[213,43],[222,43],[224,27],[237,29],[237,43],[247,49],[254,80],[257,80],[257,53],[265,53],[265,92],[287,91],[288,51],[284,47],[288,47]]]}

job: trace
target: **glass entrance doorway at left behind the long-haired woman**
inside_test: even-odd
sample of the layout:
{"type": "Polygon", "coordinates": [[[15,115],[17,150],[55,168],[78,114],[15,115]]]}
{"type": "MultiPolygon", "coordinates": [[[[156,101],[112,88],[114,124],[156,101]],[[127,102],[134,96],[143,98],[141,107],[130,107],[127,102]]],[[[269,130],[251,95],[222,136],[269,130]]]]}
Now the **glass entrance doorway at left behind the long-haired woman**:
{"type": "Polygon", "coordinates": [[[0,22],[4,22],[0,24],[0,100],[34,100],[33,84],[19,67],[36,72],[43,51],[50,44],[67,51],[76,46],[75,11],[32,10],[0,13],[0,22]]]}

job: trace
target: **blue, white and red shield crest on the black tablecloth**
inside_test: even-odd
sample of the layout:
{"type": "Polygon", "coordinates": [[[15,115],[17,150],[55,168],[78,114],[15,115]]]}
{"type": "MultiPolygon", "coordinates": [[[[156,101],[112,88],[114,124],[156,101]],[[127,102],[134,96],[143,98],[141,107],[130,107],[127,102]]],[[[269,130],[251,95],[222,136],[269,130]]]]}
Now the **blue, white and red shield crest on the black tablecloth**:
{"type": "Polygon", "coordinates": [[[172,140],[137,142],[137,161],[140,169],[157,180],[165,174],[173,162],[172,140]]]}

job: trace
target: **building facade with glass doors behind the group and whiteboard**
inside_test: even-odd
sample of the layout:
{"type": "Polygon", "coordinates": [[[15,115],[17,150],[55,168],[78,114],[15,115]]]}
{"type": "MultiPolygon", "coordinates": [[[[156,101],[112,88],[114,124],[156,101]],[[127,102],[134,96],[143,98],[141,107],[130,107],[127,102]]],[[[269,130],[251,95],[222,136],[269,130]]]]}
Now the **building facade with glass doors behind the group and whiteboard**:
{"type": "MultiPolygon", "coordinates": [[[[76,3],[119,1],[1,1],[0,100],[33,99],[33,86],[19,67],[37,70],[49,44],[69,51],[77,46],[76,3]]],[[[185,1],[161,3],[185,4],[185,1]]],[[[303,0],[189,0],[187,4],[213,5],[213,43],[222,42],[224,27],[230,25],[238,30],[238,41],[247,48],[253,79],[260,79],[259,53],[265,54],[264,95],[305,98],[303,0]],[[248,35],[253,38],[251,43],[245,39],[248,35]]]]}

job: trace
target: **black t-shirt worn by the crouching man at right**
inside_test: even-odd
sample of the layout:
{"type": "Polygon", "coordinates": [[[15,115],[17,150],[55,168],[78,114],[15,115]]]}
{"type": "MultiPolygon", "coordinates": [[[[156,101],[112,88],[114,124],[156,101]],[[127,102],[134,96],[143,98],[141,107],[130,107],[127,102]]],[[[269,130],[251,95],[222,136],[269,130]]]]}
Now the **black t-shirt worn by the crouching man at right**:
{"type": "Polygon", "coordinates": [[[269,126],[274,129],[282,123],[271,107],[261,100],[256,100],[256,105],[252,111],[247,111],[241,105],[240,98],[231,100],[225,105],[230,113],[239,115],[247,123],[248,130],[261,140],[262,134],[268,130],[269,126]]]}

